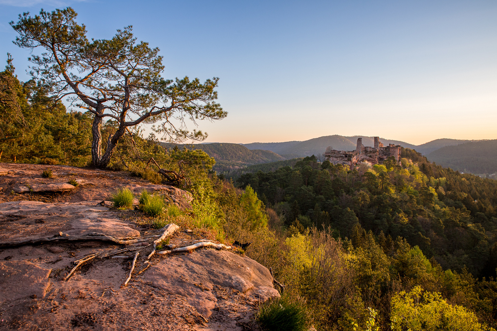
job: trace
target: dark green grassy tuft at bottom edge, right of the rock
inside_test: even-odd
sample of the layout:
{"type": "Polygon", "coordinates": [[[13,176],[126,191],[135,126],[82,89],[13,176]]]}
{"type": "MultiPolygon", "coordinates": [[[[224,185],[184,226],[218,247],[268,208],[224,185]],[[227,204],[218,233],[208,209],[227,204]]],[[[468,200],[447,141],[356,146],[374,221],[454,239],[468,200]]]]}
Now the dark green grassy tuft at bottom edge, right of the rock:
{"type": "Polygon", "coordinates": [[[308,325],[305,309],[284,297],[263,304],[256,321],[262,329],[269,331],[302,331],[308,325]]]}

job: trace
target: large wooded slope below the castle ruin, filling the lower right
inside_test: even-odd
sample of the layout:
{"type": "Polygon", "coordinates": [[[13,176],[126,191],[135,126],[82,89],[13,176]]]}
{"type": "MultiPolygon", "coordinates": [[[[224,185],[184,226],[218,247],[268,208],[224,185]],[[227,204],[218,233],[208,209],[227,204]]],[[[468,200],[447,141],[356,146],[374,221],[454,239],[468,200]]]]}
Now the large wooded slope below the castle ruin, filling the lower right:
{"type": "MultiPolygon", "coordinates": [[[[352,307],[357,307],[354,305],[362,307],[359,310],[379,309],[377,321],[383,330],[387,330],[386,322],[400,317],[397,314],[402,309],[427,309],[421,303],[417,308],[407,308],[409,300],[395,297],[400,288],[405,289],[402,295],[406,300],[411,297],[420,302],[427,300],[422,299],[423,291],[440,292],[442,296],[433,301],[437,305],[447,300],[477,312],[480,321],[494,325],[497,306],[491,298],[497,298],[496,284],[477,282],[473,277],[492,280],[496,275],[497,181],[434,165],[420,153],[403,148],[401,165],[390,160],[375,166],[363,163],[350,170],[329,162],[320,164],[312,156],[293,167],[244,174],[237,182],[242,188],[253,188],[277,213],[276,222],[297,233],[294,239],[287,239],[290,249],[316,247],[314,241],[326,241],[323,235],[317,238],[315,230],[309,234],[306,229],[312,227],[330,229],[331,236],[341,238],[333,245],[349,254],[352,270],[346,271],[344,265],[335,262],[334,268],[343,269],[329,270],[327,277],[331,279],[313,276],[319,264],[309,261],[309,268],[305,267],[304,254],[304,260],[297,263],[303,267],[298,276],[280,274],[289,283],[300,283],[300,295],[313,302],[314,309],[321,307],[322,319],[335,321],[339,330],[351,330],[346,321],[361,319],[360,314],[352,313],[352,307]],[[339,273],[353,280],[348,283],[339,273]],[[344,294],[329,284],[331,281],[334,286],[349,288],[347,295],[356,295],[355,299],[340,301],[344,294]],[[320,286],[330,291],[324,297],[318,294],[320,286]]],[[[339,260],[340,249],[335,252],[339,260]]],[[[308,257],[322,259],[319,254],[308,257]]],[[[363,314],[367,316],[367,310],[363,314]]],[[[420,315],[407,320],[419,318],[427,325],[432,321],[434,328],[439,323],[438,315],[434,311],[427,314],[425,320],[420,315]]],[[[461,316],[451,316],[449,320],[454,323],[461,321],[461,316]]],[[[396,321],[400,324],[393,326],[410,325],[396,321]]]]}

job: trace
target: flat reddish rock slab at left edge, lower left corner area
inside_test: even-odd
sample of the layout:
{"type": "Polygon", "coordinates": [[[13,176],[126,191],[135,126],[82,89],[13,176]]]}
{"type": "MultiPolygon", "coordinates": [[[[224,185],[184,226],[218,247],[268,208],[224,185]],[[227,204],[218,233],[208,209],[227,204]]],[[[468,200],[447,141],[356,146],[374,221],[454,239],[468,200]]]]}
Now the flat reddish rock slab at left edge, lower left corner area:
{"type": "Polygon", "coordinates": [[[0,302],[45,298],[51,271],[27,261],[0,262],[0,302]]]}

